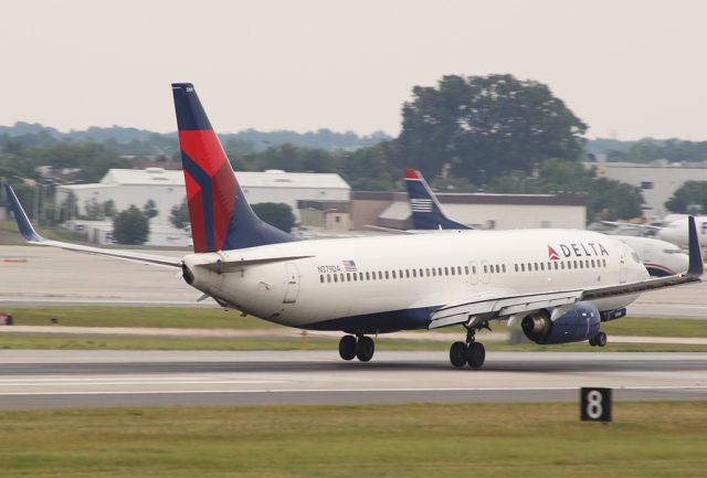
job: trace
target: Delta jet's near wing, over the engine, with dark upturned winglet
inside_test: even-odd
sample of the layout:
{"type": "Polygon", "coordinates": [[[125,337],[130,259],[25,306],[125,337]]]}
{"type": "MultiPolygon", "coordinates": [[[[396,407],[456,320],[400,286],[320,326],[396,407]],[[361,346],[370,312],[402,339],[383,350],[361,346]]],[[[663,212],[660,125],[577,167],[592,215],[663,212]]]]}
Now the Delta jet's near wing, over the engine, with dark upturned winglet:
{"type": "Polygon", "coordinates": [[[563,306],[581,300],[629,296],[700,282],[704,266],[693,216],[688,220],[688,229],[689,268],[685,274],[585,289],[551,290],[523,295],[508,293],[485,295],[441,307],[432,314],[429,328],[436,329],[457,323],[473,323],[477,320],[504,319],[516,314],[528,314],[534,310],[563,306]]]}

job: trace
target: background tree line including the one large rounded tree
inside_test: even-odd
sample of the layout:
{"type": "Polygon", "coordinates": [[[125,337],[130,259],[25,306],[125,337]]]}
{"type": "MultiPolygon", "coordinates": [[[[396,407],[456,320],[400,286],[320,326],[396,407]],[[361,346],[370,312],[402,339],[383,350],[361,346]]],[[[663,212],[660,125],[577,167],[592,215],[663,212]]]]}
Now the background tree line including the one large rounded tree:
{"type": "MultiPolygon", "coordinates": [[[[542,83],[513,75],[447,75],[434,86],[415,86],[401,117],[397,138],[381,135],[373,138],[378,142],[350,149],[292,144],[262,149],[243,137],[222,142],[236,170],[336,172],[355,190],[394,191],[403,188],[402,169],[412,167],[443,192],[579,193],[588,198],[589,220],[641,214],[636,188],[583,168],[588,126],[542,83]]],[[[96,142],[57,140],[44,130],[21,137],[0,132],[0,176],[36,178],[38,166],[52,164],[75,169],[77,181],[97,181],[109,168],[130,167],[120,145],[158,140],[140,135],[96,142]]],[[[157,136],[166,141],[157,145],[162,151],[176,141],[157,136]]],[[[178,160],[176,150],[170,155],[178,160]]]]}

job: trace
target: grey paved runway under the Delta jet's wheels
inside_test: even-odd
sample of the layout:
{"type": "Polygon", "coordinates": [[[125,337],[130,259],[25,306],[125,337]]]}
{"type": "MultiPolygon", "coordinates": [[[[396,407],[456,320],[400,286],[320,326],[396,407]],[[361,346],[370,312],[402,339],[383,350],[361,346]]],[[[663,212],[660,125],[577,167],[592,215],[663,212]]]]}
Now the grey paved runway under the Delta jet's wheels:
{"type": "Polygon", "coordinates": [[[707,400],[707,353],[488,352],[482,370],[444,352],[0,351],[0,408],[156,405],[707,400]]]}

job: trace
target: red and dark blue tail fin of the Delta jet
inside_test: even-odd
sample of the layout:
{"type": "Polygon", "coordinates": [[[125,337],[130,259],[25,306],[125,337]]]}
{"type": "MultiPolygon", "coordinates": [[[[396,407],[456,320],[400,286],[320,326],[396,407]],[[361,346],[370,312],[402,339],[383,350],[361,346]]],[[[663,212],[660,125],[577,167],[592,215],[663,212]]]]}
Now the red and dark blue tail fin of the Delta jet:
{"type": "Polygon", "coordinates": [[[296,241],[255,215],[191,83],[173,83],[196,253],[296,241]]]}

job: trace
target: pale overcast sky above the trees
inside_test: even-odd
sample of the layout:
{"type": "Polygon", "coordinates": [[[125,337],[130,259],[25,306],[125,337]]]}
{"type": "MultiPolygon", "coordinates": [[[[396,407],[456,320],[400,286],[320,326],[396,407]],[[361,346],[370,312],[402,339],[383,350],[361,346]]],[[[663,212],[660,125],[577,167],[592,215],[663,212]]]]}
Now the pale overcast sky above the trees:
{"type": "Polygon", "coordinates": [[[217,130],[397,135],[414,85],[510,73],[590,137],[706,140],[706,1],[15,0],[0,125],[176,129],[192,82],[217,130]]]}

